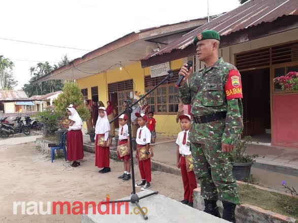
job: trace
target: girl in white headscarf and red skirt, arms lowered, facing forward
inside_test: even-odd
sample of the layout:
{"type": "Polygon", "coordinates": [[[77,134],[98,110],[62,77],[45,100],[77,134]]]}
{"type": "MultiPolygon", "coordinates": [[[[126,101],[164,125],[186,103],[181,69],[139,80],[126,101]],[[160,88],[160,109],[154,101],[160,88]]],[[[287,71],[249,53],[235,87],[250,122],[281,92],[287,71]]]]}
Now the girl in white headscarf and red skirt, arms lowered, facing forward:
{"type": "Polygon", "coordinates": [[[110,147],[107,147],[107,140],[109,138],[110,123],[108,120],[105,107],[98,108],[98,119],[95,126],[95,166],[101,169],[100,173],[107,173],[111,171],[110,168],[110,147]],[[97,142],[104,137],[104,144],[99,145],[97,142]]]}

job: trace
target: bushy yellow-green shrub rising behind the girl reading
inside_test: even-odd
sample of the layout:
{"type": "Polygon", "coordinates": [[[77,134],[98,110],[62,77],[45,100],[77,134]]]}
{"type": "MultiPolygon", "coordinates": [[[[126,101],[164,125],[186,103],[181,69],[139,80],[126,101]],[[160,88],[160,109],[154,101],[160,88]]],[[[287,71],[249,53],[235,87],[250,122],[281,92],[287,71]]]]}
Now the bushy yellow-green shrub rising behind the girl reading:
{"type": "Polygon", "coordinates": [[[55,112],[60,116],[68,116],[66,107],[73,104],[76,106],[76,110],[83,121],[90,118],[90,112],[84,103],[80,87],[72,81],[65,83],[63,93],[59,94],[58,98],[54,100],[53,103],[55,104],[55,112]]]}

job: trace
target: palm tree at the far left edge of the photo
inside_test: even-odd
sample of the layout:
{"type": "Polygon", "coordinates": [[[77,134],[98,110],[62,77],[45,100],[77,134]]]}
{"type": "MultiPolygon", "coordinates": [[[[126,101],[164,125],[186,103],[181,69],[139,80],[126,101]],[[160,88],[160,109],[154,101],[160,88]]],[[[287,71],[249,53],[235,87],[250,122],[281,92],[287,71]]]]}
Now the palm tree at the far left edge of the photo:
{"type": "Polygon", "coordinates": [[[13,77],[14,63],[0,55],[0,90],[12,90],[18,82],[13,77]]]}

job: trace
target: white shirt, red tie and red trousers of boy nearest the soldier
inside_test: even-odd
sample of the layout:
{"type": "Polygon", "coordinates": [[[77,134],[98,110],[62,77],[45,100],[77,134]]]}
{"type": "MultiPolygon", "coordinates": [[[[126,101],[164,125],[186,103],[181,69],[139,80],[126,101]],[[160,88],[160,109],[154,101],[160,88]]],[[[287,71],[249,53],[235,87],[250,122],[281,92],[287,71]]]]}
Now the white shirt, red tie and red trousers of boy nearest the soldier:
{"type": "Polygon", "coordinates": [[[190,141],[188,140],[188,131],[179,132],[176,144],[179,145],[180,154],[180,170],[182,175],[183,187],[184,187],[184,200],[192,203],[193,190],[197,188],[195,174],[192,171],[187,172],[185,156],[191,155],[190,141]]]}

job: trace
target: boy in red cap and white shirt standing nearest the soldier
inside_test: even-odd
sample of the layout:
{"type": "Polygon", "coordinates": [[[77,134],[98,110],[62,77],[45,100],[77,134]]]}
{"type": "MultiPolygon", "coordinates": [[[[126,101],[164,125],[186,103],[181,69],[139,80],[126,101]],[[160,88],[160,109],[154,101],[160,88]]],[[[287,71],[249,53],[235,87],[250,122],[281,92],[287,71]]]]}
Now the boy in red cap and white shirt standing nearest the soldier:
{"type": "Polygon", "coordinates": [[[179,116],[182,132],[179,132],[177,144],[177,164],[176,166],[181,169],[183,187],[184,187],[184,200],[183,204],[193,207],[192,194],[196,186],[195,174],[193,172],[191,152],[189,150],[190,141],[188,140],[188,133],[191,127],[190,115],[179,116]],[[190,160],[187,160],[190,159],[190,160]],[[190,161],[190,162],[189,162],[190,161]],[[188,165],[187,165],[188,164],[188,165]],[[190,164],[190,165],[189,165],[190,164]]]}

